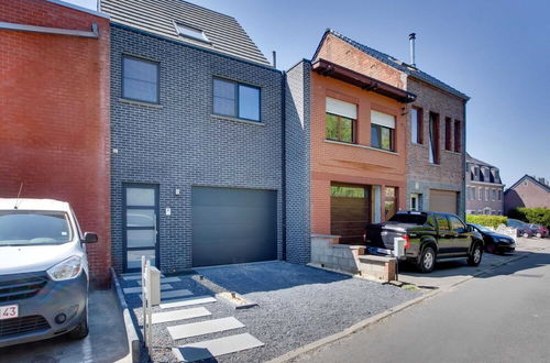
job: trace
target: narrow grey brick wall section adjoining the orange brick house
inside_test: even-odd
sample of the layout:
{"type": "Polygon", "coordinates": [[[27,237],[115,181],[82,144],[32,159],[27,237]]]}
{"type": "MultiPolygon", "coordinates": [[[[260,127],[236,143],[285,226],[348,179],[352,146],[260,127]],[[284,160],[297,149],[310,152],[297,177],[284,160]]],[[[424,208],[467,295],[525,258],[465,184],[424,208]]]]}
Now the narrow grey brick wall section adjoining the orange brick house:
{"type": "Polygon", "coordinates": [[[286,75],[286,241],[287,260],[310,262],[310,64],[286,75]]]}

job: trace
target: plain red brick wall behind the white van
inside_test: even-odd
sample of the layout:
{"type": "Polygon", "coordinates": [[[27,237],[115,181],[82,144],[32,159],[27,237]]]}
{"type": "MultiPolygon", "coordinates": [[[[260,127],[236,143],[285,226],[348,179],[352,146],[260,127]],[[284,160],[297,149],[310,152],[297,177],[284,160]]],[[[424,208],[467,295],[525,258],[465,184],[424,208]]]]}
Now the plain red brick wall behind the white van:
{"type": "Polygon", "coordinates": [[[85,38],[0,30],[0,197],[72,204],[92,284],[110,267],[109,20],[42,0],[0,0],[0,21],[90,31],[85,38]]]}

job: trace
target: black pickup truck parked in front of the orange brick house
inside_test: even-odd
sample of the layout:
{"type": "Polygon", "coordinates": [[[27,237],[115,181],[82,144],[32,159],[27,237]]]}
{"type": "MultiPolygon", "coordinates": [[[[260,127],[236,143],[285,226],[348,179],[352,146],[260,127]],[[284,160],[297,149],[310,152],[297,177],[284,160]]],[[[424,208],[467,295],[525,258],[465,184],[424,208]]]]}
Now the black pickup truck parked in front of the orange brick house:
{"type": "Polygon", "coordinates": [[[415,263],[424,273],[433,271],[436,261],[468,258],[477,266],[483,238],[472,227],[450,213],[399,211],[385,223],[367,224],[366,249],[372,254],[394,254],[394,243],[405,244],[399,260],[415,263]]]}

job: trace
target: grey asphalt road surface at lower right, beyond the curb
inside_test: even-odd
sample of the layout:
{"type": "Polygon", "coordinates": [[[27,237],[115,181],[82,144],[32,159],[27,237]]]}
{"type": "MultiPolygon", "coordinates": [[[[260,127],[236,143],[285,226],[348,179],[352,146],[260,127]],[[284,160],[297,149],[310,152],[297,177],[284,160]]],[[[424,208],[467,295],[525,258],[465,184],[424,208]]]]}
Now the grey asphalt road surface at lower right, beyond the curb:
{"type": "Polygon", "coordinates": [[[550,249],[340,341],[315,362],[550,362],[550,249]]]}

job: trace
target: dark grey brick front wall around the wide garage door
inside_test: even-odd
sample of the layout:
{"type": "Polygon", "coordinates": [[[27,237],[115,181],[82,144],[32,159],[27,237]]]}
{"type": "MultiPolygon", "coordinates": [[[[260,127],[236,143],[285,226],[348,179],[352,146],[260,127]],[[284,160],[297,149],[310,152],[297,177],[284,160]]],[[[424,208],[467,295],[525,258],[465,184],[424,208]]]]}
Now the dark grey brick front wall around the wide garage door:
{"type": "MultiPolygon", "coordinates": [[[[191,186],[277,190],[282,253],[282,74],[274,69],[111,28],[112,264],[122,270],[122,185],[160,187],[161,270],[191,267],[191,186]],[[161,107],[121,97],[122,54],[160,63],[161,107]],[[212,77],[261,87],[261,124],[212,113],[212,77]],[[175,189],[180,195],[175,195],[175,189]],[[165,216],[165,208],[172,216],[165,216]]],[[[295,243],[295,242],[293,242],[295,243]]],[[[289,260],[301,261],[293,244],[289,260]]],[[[212,251],[215,253],[215,251],[212,251]]]]}

